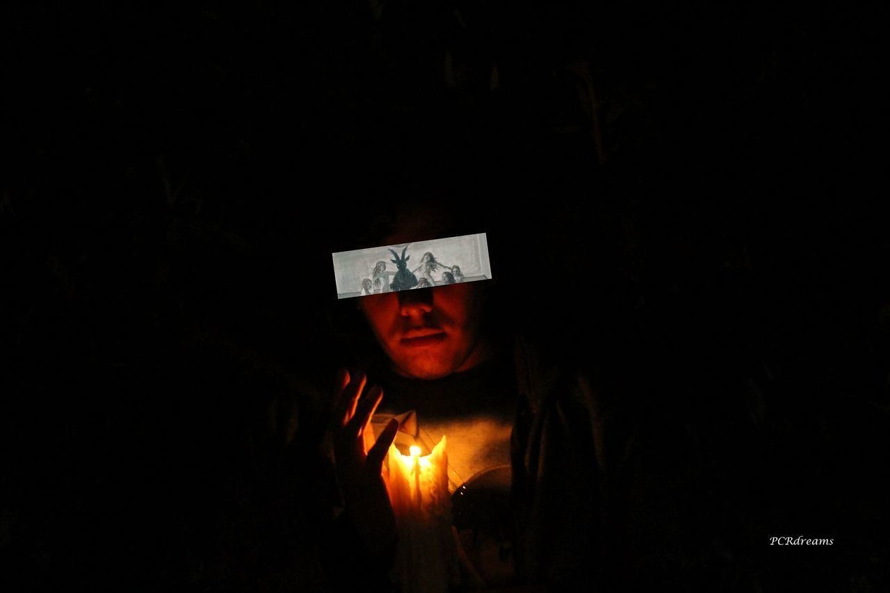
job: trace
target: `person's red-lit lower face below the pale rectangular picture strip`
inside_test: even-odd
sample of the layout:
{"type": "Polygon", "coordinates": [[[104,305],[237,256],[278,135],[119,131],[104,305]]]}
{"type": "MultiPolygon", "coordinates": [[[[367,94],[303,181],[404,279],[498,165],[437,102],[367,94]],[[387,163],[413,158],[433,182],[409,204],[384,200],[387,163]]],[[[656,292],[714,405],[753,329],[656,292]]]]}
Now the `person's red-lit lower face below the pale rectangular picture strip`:
{"type": "Polygon", "coordinates": [[[483,290],[450,284],[362,296],[359,305],[377,341],[402,375],[433,379],[485,360],[483,290]]]}

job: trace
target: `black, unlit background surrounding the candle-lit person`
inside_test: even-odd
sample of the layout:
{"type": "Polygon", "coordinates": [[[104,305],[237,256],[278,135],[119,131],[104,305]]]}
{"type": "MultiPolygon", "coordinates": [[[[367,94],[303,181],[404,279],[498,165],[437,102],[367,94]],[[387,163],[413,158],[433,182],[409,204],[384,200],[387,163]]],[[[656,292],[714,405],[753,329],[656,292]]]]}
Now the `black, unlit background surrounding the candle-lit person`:
{"type": "Polygon", "coordinates": [[[206,588],[244,435],[333,368],[329,254],[453,200],[531,333],[667,407],[756,384],[763,449],[716,463],[769,467],[765,582],[886,586],[879,15],[372,8],[4,7],[5,578],[206,588]]]}

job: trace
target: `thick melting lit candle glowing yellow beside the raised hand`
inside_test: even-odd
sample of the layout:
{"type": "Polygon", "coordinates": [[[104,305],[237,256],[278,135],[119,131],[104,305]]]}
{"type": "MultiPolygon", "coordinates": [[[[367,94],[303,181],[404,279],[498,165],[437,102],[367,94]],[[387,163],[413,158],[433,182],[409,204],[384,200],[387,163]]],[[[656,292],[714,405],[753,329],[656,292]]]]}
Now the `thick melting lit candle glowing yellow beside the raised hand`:
{"type": "Polygon", "coordinates": [[[393,579],[402,593],[446,592],[459,571],[445,437],[429,455],[422,457],[417,446],[409,453],[392,445],[384,475],[399,533],[393,579]]]}

